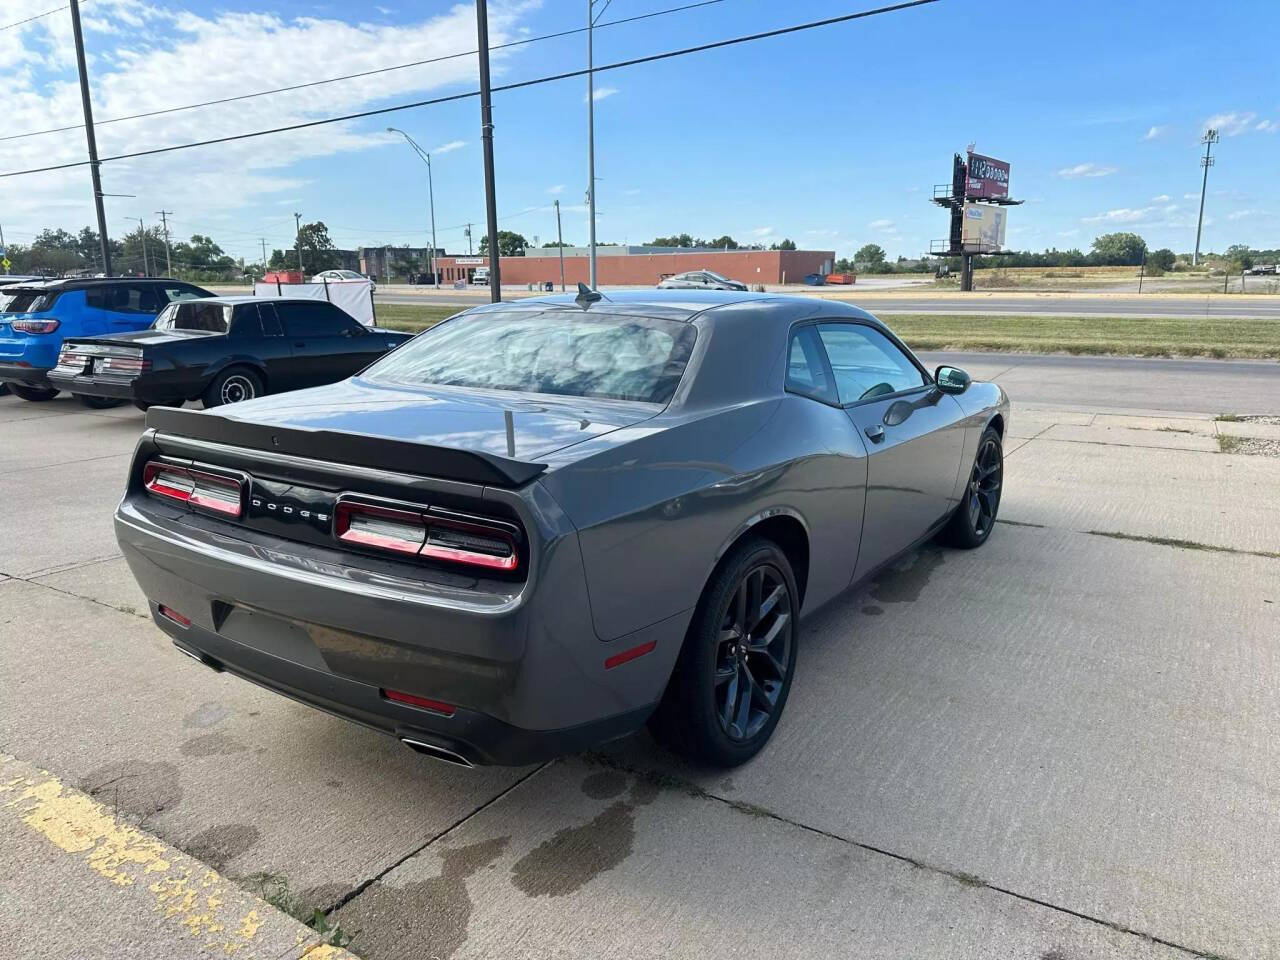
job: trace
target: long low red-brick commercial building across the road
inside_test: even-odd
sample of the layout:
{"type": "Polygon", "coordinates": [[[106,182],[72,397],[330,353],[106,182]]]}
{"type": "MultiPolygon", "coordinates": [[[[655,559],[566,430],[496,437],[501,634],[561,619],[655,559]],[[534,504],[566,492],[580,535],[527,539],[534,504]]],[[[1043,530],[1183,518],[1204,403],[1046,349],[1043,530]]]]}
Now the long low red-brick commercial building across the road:
{"type": "MultiPolygon", "coordinates": [[[[595,248],[596,282],[600,285],[652,287],[672,274],[714,270],[748,284],[801,283],[805,274],[829,274],[836,253],[829,250],[719,250],[707,247],[604,246],[595,248]]],[[[452,284],[470,280],[488,257],[442,256],[436,260],[439,280],[452,284]]],[[[502,257],[503,284],[559,284],[559,251],[529,250],[521,257],[502,257]]],[[[564,248],[564,283],[590,282],[586,247],[564,248]]]]}

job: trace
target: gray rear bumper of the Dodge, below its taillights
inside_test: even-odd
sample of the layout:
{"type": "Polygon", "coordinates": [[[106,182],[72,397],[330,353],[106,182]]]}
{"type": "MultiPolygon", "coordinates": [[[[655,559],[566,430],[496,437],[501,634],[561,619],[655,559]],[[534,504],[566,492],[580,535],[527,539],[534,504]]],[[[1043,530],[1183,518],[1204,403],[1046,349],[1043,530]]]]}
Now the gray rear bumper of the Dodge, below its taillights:
{"type": "MultiPolygon", "coordinates": [[[[536,485],[535,485],[536,486],[536,485]]],[[[691,612],[604,643],[576,534],[544,547],[525,584],[403,580],[352,557],[184,520],[129,495],[120,549],[174,643],[216,668],[474,764],[524,764],[640,727],[660,699],[691,612]],[[191,621],[159,613],[159,604],[191,621]],[[620,652],[645,655],[607,668],[620,652]],[[452,716],[388,700],[428,698],[452,716]]]]}

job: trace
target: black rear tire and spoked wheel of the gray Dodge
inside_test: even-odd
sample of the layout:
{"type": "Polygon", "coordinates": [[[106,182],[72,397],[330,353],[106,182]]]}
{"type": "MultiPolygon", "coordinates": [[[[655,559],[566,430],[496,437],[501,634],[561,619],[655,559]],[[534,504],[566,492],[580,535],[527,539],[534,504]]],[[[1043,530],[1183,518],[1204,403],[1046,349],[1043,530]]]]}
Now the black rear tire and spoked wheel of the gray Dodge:
{"type": "Polygon", "coordinates": [[[799,598],[791,564],[777,544],[751,536],[735,547],[698,602],[676,669],[649,722],[654,736],[714,767],[737,767],[755,756],[773,735],[791,691],[799,598]]]}

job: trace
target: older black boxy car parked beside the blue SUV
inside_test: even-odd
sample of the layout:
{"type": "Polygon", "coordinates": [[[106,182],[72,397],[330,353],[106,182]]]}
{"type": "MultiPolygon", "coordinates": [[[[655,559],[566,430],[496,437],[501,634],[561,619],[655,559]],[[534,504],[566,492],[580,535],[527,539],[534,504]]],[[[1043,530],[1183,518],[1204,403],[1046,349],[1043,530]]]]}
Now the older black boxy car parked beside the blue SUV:
{"type": "Polygon", "coordinates": [[[188,300],[150,330],[65,340],[49,381],[142,410],[193,399],[216,407],[342,380],[410,338],[319,300],[188,300]]]}

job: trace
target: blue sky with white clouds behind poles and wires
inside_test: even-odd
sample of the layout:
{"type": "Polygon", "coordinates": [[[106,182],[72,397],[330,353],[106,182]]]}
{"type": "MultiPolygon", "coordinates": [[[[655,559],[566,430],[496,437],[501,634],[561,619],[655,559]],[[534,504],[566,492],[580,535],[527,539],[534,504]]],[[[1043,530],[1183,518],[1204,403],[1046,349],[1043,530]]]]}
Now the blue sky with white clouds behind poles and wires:
{"type": "MultiPolygon", "coordinates": [[[[681,0],[612,0],[604,20],[681,0]]],[[[51,4],[50,4],[51,5],[51,4]]],[[[602,28],[596,63],[832,17],[872,3],[722,0],[602,28]]],[[[0,26],[29,15],[0,0],[0,26]]],[[[99,119],[262,87],[321,79],[474,47],[468,6],[83,0],[99,119]]],[[[581,26],[585,3],[493,0],[494,42],[581,26]]],[[[67,13],[0,31],[5,132],[79,116],[67,13]]],[[[1199,134],[1217,118],[1206,248],[1280,246],[1280,56],[1274,0],[1206,15],[1190,3],[941,3],[758,44],[599,74],[596,174],[602,241],[730,233],[783,237],[851,255],[867,242],[916,256],[945,236],[927,202],[970,141],[1012,164],[1018,248],[1088,248],[1132,229],[1190,250],[1199,201],[1199,134]]],[[[585,38],[495,56],[495,83],[573,69],[585,38]]],[[[375,78],[145,120],[108,124],[104,155],[297,123],[475,86],[462,58],[375,78]]],[[[586,238],[585,81],[499,93],[494,101],[502,225],[532,239],[586,238]]],[[[339,246],[426,242],[425,168],[388,124],[434,154],[442,246],[483,230],[475,100],[234,145],[105,164],[113,233],[125,218],[173,210],[180,236],[211,233],[229,252],[288,246],[293,211],[324,220],[339,246]]],[[[0,142],[0,172],[83,157],[70,131],[0,142]]],[[[24,242],[45,225],[92,223],[88,172],[0,179],[0,224],[24,242]]]]}

